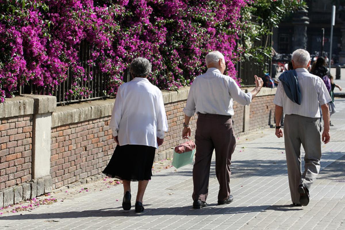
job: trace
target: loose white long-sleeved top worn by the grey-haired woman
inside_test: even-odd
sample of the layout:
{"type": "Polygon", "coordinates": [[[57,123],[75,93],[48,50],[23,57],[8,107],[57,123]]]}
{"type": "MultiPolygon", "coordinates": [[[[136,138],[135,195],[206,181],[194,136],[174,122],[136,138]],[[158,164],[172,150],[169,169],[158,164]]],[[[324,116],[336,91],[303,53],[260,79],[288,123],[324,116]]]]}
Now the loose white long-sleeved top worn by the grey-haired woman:
{"type": "Polygon", "coordinates": [[[168,131],[162,92],[146,78],[122,84],[116,95],[109,127],[120,146],[139,144],[158,148],[157,137],[168,131]]]}

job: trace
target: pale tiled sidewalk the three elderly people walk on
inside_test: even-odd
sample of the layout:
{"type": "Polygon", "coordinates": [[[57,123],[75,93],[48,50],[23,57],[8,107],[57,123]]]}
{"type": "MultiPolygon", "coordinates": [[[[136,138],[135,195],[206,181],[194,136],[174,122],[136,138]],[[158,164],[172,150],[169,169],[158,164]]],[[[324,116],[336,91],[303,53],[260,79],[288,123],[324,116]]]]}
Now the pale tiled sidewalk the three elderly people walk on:
{"type": "MultiPolygon", "coordinates": [[[[331,134],[332,142],[323,146],[322,171],[306,207],[290,206],[283,139],[274,136],[274,129],[267,129],[237,140],[231,204],[217,206],[213,161],[207,208],[191,208],[189,165],[152,177],[144,213],[135,213],[134,206],[123,211],[121,200],[116,201],[122,199],[122,186],[116,186],[31,212],[4,214],[0,229],[344,229],[345,135],[342,129],[333,129],[331,134]]],[[[132,184],[134,205],[137,183],[132,184]]]]}

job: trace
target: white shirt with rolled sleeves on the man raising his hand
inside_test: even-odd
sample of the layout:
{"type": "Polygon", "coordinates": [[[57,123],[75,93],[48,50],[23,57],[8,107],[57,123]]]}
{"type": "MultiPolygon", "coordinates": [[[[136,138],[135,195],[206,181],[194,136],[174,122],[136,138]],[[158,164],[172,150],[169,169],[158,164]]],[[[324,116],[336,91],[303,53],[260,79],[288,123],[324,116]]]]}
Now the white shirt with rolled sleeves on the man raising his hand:
{"type": "Polygon", "coordinates": [[[234,79],[221,74],[217,68],[208,68],[206,73],[194,79],[183,111],[188,117],[195,112],[232,116],[233,99],[249,105],[252,94],[244,93],[234,79]]]}

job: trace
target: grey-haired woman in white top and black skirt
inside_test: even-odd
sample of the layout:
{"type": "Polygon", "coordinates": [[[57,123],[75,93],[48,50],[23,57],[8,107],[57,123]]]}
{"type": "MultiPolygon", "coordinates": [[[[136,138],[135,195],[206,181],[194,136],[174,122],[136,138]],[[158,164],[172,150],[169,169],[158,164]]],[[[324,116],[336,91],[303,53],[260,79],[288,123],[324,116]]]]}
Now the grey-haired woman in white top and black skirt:
{"type": "Polygon", "coordinates": [[[151,63],[146,58],[136,58],[129,70],[134,79],[117,91],[109,123],[117,146],[103,173],[122,180],[124,210],[131,208],[130,182],[139,181],[135,211],[142,212],[155,151],[163,143],[168,123],[162,93],[147,80],[151,63]]]}

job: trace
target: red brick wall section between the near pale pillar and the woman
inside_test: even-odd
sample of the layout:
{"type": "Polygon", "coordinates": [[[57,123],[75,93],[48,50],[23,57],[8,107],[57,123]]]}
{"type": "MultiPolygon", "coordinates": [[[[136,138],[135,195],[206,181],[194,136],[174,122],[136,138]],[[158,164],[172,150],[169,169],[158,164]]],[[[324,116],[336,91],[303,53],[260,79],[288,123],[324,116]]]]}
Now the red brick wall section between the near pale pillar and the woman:
{"type": "Polygon", "coordinates": [[[51,129],[50,175],[53,188],[96,175],[115,149],[110,117],[51,129]]]}

